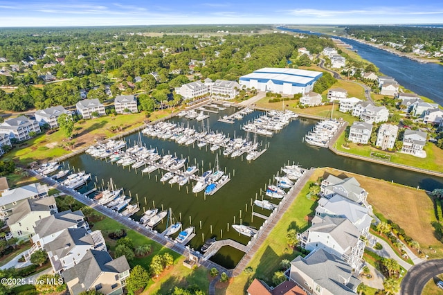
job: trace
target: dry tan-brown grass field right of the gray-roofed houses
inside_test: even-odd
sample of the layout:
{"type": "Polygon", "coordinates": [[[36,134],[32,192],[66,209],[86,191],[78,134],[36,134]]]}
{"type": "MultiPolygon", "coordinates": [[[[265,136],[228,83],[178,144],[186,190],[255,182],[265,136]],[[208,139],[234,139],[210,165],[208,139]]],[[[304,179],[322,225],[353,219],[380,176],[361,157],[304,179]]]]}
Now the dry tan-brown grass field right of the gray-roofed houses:
{"type": "MultiPolygon", "coordinates": [[[[331,168],[327,171],[333,172],[334,175],[342,173],[331,168]]],[[[354,175],[350,172],[345,174],[355,177],[361,187],[368,191],[368,203],[372,205],[374,211],[404,229],[407,235],[419,242],[425,254],[431,258],[443,258],[443,244],[435,238],[431,225],[436,221],[433,202],[424,190],[391,184],[389,181],[354,175]]]]}

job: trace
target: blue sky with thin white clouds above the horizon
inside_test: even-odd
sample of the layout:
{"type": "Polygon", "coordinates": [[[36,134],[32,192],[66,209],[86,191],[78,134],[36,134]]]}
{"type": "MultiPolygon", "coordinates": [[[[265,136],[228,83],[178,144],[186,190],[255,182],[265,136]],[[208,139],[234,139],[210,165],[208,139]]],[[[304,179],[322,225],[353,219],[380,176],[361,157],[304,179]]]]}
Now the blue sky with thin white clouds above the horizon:
{"type": "Polygon", "coordinates": [[[0,27],[443,23],[443,1],[418,3],[417,0],[0,0],[0,27]]]}

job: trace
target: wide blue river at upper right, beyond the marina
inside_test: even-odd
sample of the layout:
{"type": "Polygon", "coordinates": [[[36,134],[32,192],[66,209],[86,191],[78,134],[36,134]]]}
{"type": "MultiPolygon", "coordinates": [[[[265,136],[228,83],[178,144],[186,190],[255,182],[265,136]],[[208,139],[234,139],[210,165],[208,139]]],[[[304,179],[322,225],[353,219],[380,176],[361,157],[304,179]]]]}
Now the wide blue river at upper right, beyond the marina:
{"type": "MultiPolygon", "coordinates": [[[[282,28],[297,33],[321,35],[311,33],[307,30],[297,30],[282,28]]],[[[365,60],[375,64],[384,75],[389,75],[399,84],[415,93],[426,96],[443,106],[443,66],[440,64],[420,64],[406,57],[383,51],[366,44],[361,44],[353,39],[338,37],[346,44],[358,50],[358,53],[365,60]]]]}

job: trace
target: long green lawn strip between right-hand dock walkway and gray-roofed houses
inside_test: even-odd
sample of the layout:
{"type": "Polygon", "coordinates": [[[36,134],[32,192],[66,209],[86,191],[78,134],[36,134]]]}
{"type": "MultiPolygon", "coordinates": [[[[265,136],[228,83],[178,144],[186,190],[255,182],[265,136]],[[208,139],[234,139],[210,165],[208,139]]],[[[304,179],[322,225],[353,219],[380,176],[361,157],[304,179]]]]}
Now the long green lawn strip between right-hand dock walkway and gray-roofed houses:
{"type": "Polygon", "coordinates": [[[308,199],[306,195],[309,193],[309,185],[318,176],[314,175],[311,177],[293,203],[289,205],[280,222],[275,225],[260,249],[255,253],[251,263],[248,265],[248,267],[252,267],[253,272],[251,274],[242,273],[235,277],[226,289],[226,293],[220,293],[225,291],[219,290],[217,294],[243,294],[242,292],[246,292],[253,278],[260,278],[272,285],[272,276],[275,271],[279,270],[280,262],[283,259],[293,260],[300,255],[298,251],[293,251],[293,249],[287,246],[286,234],[289,229],[296,229],[298,232],[302,232],[308,228],[307,215],[311,215],[314,212],[316,203],[314,200],[308,199]]]}

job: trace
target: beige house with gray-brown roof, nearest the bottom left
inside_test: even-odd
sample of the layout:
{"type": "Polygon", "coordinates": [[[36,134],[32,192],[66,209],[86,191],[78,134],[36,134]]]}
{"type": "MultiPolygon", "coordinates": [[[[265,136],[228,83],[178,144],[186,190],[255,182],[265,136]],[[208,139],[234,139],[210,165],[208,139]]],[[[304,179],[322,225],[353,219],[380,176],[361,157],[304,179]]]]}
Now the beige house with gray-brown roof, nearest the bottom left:
{"type": "Polygon", "coordinates": [[[77,265],[63,271],[62,276],[72,295],[88,290],[120,295],[129,269],[125,256],[113,260],[107,251],[89,250],[77,265]]]}

